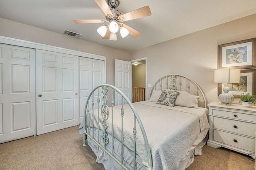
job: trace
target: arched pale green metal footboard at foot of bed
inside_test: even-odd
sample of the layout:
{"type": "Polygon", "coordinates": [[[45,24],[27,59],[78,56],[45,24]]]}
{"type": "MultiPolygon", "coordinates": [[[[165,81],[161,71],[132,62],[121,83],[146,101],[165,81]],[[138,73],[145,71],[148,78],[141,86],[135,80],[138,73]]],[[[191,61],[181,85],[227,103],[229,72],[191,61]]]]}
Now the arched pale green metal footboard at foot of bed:
{"type": "Polygon", "coordinates": [[[150,147],[148,144],[148,139],[146,136],[146,132],[144,130],[144,127],[142,125],[142,122],[140,120],[140,117],[137,113],[137,111],[134,109],[134,106],[132,105],[131,101],[128,99],[128,97],[126,97],[126,95],[124,95],[124,93],[122,93],[119,89],[117,89],[116,87],[112,86],[112,85],[108,85],[108,84],[102,84],[102,85],[98,85],[97,87],[95,87],[92,92],[90,93],[90,95],[88,96],[88,99],[86,100],[86,105],[85,105],[85,110],[84,110],[84,121],[83,121],[83,127],[84,127],[84,144],[83,146],[86,146],[86,139],[89,137],[92,141],[94,141],[100,148],[102,148],[102,150],[104,150],[108,155],[110,155],[113,160],[115,160],[118,164],[120,164],[120,166],[122,166],[124,169],[128,170],[128,168],[126,168],[126,166],[124,165],[124,134],[123,134],[123,122],[124,122],[124,114],[125,114],[125,110],[124,110],[124,104],[127,103],[130,108],[132,109],[133,113],[134,113],[134,122],[133,122],[133,143],[134,143],[134,150],[133,150],[133,169],[136,169],[136,122],[138,123],[140,130],[142,132],[143,138],[144,138],[144,143],[145,143],[145,148],[146,148],[146,153],[147,153],[147,157],[148,157],[148,169],[152,170],[152,156],[151,156],[151,152],[150,152],[150,147]],[[122,136],[121,136],[121,143],[122,143],[122,151],[121,151],[121,160],[119,160],[118,158],[115,157],[114,155],[114,122],[113,122],[113,117],[114,117],[114,113],[113,113],[113,107],[115,105],[114,103],[114,96],[115,93],[119,93],[121,95],[121,99],[122,99],[122,109],[120,110],[120,114],[121,114],[121,125],[122,125],[122,136]],[[109,109],[108,109],[108,105],[107,105],[107,101],[108,101],[108,97],[107,95],[111,95],[111,107],[112,107],[112,117],[111,119],[111,125],[107,124],[107,120],[109,118],[109,109]],[[96,99],[97,98],[97,99],[96,99]],[[97,101],[95,102],[94,99],[96,99],[97,101]],[[91,105],[90,105],[91,103],[91,105]],[[89,121],[94,121],[94,119],[90,120],[90,119],[86,119],[86,114],[89,113],[91,110],[92,115],[97,114],[98,115],[98,127],[95,127],[95,129],[98,129],[98,138],[94,137],[94,122],[92,122],[92,136],[90,135],[90,133],[88,132],[88,130],[86,130],[86,125],[90,125],[89,121]],[[94,113],[95,111],[97,111],[97,113],[94,113]],[[103,121],[100,121],[100,117],[103,119],[103,121]],[[87,122],[86,122],[87,121],[87,122]],[[100,123],[102,123],[102,135],[100,136],[100,123]],[[110,135],[111,139],[109,138],[109,133],[107,132],[107,128],[111,126],[112,129],[112,134],[110,135]],[[101,142],[103,141],[103,145],[100,144],[100,139],[101,142]],[[109,142],[111,141],[111,142],[109,142]],[[106,148],[106,146],[110,146],[112,148],[111,152],[109,152],[106,148]]]}

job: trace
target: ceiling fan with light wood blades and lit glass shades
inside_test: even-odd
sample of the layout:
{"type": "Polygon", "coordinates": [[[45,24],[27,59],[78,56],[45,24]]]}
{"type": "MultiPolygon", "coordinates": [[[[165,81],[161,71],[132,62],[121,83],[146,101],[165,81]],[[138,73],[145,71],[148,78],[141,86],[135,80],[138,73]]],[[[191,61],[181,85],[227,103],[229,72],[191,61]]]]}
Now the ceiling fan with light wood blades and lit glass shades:
{"type": "Polygon", "coordinates": [[[133,37],[138,37],[140,32],[133,28],[120,23],[124,21],[134,20],[145,16],[150,16],[151,11],[149,6],[144,6],[137,10],[121,14],[116,7],[119,6],[119,0],[94,0],[101,10],[106,14],[106,20],[73,20],[76,24],[104,23],[98,28],[97,32],[103,37],[102,39],[117,40],[116,32],[120,29],[122,38],[130,34],[133,37]]]}

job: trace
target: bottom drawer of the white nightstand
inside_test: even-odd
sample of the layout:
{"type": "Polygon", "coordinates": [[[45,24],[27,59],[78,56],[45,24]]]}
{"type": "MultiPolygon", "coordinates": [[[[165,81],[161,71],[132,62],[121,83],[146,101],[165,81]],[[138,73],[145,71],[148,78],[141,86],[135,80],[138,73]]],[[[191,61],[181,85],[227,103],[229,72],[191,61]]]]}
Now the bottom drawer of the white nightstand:
{"type": "Polygon", "coordinates": [[[213,133],[213,140],[217,142],[228,144],[254,153],[255,139],[239,136],[228,132],[222,132],[216,129],[213,130],[213,133]]]}

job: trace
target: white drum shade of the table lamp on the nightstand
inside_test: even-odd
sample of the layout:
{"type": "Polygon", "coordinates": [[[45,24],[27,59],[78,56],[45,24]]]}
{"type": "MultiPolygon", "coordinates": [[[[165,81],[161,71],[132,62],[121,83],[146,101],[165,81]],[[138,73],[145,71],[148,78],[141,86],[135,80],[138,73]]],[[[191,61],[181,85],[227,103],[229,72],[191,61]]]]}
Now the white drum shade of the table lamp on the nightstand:
{"type": "Polygon", "coordinates": [[[214,83],[239,83],[241,69],[214,70],[214,83]]]}

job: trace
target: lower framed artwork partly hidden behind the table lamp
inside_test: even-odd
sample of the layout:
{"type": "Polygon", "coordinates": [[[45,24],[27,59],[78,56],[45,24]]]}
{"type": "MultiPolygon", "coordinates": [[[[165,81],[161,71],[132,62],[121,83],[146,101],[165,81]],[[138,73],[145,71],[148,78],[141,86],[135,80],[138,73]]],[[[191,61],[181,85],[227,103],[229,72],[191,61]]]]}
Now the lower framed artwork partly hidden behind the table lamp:
{"type": "MultiPolygon", "coordinates": [[[[244,69],[240,73],[240,83],[229,83],[229,92],[238,98],[241,93],[250,93],[250,95],[256,95],[256,69],[244,69]]],[[[224,93],[223,83],[219,83],[219,95],[224,93]]]]}

